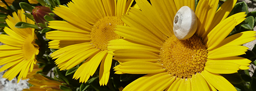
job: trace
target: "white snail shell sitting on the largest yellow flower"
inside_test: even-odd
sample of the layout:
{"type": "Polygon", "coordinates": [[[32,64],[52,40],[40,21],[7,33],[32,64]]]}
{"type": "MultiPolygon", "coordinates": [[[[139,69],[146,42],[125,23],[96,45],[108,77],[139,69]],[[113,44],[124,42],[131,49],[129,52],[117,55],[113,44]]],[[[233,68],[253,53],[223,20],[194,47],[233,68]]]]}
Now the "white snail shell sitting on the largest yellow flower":
{"type": "Polygon", "coordinates": [[[197,17],[188,6],[182,6],[174,16],[173,33],[178,40],[192,37],[197,28],[197,17]]]}

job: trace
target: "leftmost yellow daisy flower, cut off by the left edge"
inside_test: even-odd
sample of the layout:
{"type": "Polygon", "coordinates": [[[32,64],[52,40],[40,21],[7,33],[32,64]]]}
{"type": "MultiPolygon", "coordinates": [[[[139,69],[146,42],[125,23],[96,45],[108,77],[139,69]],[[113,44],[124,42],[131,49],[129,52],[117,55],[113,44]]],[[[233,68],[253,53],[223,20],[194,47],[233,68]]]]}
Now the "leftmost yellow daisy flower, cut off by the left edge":
{"type": "Polygon", "coordinates": [[[36,63],[35,56],[38,54],[38,46],[35,44],[36,36],[32,28],[15,28],[17,22],[27,22],[34,24],[34,21],[26,18],[22,9],[18,14],[13,12],[13,18],[7,16],[5,20],[10,28],[5,27],[3,30],[8,35],[0,35],[0,42],[6,45],[0,46],[0,72],[8,69],[3,78],[13,79],[19,74],[18,82],[21,78],[26,78],[28,70],[33,70],[36,63]]]}

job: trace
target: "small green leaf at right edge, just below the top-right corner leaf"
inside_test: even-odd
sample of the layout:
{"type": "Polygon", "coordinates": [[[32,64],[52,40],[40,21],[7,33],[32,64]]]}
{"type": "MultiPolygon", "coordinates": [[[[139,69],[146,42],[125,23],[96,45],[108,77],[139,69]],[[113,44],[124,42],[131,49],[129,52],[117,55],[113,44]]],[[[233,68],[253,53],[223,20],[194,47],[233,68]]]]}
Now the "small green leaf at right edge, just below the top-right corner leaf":
{"type": "Polygon", "coordinates": [[[243,22],[242,22],[242,27],[248,30],[254,30],[254,17],[253,16],[249,16],[247,17],[243,22]]]}

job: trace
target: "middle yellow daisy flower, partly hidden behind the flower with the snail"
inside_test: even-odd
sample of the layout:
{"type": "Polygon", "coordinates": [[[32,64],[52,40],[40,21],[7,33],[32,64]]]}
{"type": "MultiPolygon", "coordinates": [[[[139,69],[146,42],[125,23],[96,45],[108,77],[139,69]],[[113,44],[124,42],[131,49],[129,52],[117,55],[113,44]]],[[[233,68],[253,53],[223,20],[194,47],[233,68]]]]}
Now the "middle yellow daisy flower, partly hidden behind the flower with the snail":
{"type": "Polygon", "coordinates": [[[99,83],[106,85],[112,63],[107,49],[108,41],[121,38],[114,33],[116,25],[123,25],[120,17],[128,11],[133,0],[73,0],[60,5],[54,13],[66,21],[50,21],[49,27],[59,31],[46,33],[50,48],[59,49],[51,54],[60,70],[71,69],[85,62],[74,74],[86,82],[98,65],[99,83]]]}

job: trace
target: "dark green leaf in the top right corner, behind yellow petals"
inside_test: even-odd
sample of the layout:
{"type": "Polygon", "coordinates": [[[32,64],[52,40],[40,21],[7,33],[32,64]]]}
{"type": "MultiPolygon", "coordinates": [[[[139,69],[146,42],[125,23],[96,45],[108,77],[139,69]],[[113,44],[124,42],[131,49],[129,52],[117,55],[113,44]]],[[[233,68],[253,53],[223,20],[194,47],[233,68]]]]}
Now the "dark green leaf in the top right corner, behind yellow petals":
{"type": "Polygon", "coordinates": [[[236,3],[232,11],[229,13],[229,16],[236,14],[238,12],[246,12],[246,14],[249,12],[248,5],[245,1],[236,3]]]}

